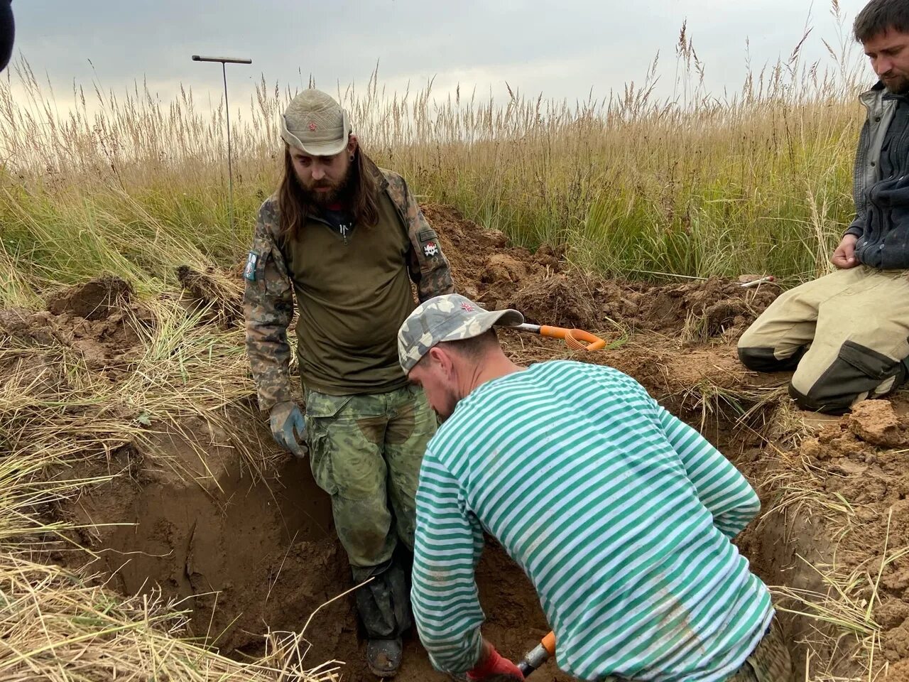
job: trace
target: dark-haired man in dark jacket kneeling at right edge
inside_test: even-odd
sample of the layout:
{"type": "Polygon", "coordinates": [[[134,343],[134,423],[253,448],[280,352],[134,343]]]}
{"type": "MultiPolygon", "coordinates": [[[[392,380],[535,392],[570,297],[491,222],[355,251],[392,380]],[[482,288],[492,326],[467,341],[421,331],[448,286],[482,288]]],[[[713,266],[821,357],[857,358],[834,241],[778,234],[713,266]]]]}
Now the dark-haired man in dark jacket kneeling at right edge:
{"type": "Polygon", "coordinates": [[[837,269],[785,292],[738,343],[745,366],[793,369],[796,403],[830,414],[890,393],[909,366],[909,3],[872,0],[854,33],[880,80],[860,97],[856,216],[837,269]]]}

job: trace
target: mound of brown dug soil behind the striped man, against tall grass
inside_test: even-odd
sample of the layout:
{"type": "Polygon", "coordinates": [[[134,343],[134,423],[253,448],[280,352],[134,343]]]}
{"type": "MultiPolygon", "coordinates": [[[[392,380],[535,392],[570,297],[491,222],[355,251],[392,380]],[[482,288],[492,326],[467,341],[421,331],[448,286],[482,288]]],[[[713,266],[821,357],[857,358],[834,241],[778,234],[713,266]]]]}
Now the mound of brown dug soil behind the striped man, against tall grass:
{"type": "Polygon", "coordinates": [[[744,288],[719,278],[677,285],[604,280],[565,264],[548,246],[536,253],[507,246],[504,234],[465,220],[447,206],[425,206],[442,240],[457,290],[489,309],[514,307],[528,322],[679,333],[694,316],[704,336],[734,339],[779,294],[774,284],[744,288]]]}

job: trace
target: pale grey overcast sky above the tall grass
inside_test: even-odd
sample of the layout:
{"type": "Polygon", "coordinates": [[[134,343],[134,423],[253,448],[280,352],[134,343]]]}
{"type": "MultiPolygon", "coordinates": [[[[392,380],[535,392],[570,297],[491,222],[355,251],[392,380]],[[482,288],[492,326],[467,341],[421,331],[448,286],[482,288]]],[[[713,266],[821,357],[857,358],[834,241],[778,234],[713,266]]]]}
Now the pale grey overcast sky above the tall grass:
{"type": "MultiPolygon", "coordinates": [[[[849,24],[864,3],[840,0],[849,24]]],[[[722,94],[743,82],[746,39],[758,69],[792,52],[809,13],[806,58],[826,63],[821,39],[839,40],[824,0],[14,0],[13,8],[16,55],[51,80],[62,105],[74,80],[122,92],[145,79],[164,101],[183,83],[199,101],[218,98],[220,66],[194,54],[253,59],[228,66],[232,105],[245,105],[262,75],[292,87],[313,75],[334,93],[337,83],[365,86],[376,62],[388,90],[435,76],[437,95],[460,83],[504,97],[507,82],[533,98],[574,101],[591,88],[602,97],[640,83],[657,52],[666,95],[685,19],[706,83],[722,94]]]]}

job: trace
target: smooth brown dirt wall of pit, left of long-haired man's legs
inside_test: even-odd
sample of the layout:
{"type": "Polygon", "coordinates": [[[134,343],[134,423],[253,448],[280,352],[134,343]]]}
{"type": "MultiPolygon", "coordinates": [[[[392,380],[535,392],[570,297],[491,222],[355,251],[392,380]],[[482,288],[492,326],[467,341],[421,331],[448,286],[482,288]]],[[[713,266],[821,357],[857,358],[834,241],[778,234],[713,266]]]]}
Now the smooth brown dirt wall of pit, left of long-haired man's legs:
{"type": "MultiPolygon", "coordinates": [[[[227,651],[259,646],[265,624],[299,627],[343,591],[330,500],[307,462],[286,458],[254,476],[231,436],[201,420],[183,426],[115,452],[110,466],[124,475],[86,487],[69,512],[79,525],[96,525],[82,542],[98,552],[93,568],[113,587],[160,587],[195,612],[196,636],[227,651]]],[[[243,426],[255,442],[268,437],[260,424],[243,426]]],[[[105,473],[98,463],[83,466],[84,476],[105,473]]],[[[339,642],[319,644],[333,657],[339,642]]]]}

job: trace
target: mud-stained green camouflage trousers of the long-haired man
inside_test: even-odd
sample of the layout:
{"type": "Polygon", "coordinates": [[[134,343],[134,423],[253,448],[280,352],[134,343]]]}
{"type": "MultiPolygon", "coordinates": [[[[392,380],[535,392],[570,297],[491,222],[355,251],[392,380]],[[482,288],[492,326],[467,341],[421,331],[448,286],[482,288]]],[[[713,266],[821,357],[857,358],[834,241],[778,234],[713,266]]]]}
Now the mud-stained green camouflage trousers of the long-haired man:
{"type": "Polygon", "coordinates": [[[422,390],[406,386],[363,396],[306,391],[306,430],[315,482],[332,514],[356,583],[367,637],[399,637],[411,624],[408,551],[415,496],[435,413],[422,390]]]}

